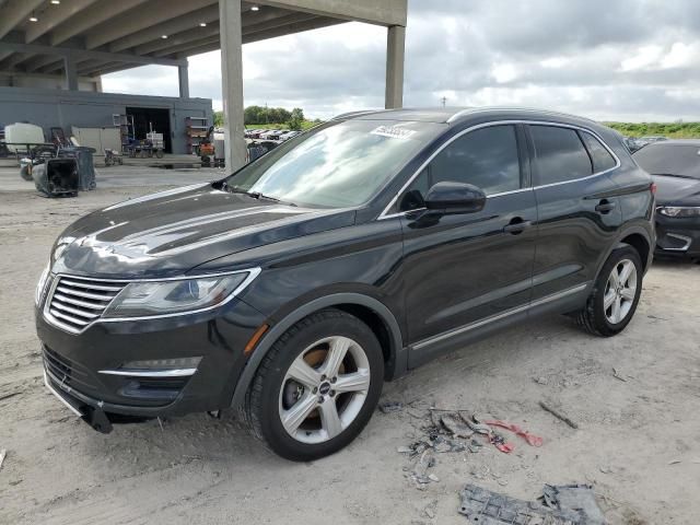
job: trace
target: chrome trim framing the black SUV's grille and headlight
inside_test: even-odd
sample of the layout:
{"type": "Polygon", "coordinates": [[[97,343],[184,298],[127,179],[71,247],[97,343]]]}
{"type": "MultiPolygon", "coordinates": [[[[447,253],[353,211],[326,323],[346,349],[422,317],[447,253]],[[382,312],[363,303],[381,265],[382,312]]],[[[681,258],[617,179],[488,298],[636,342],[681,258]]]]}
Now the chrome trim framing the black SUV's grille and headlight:
{"type": "MultiPolygon", "coordinates": [[[[51,273],[52,281],[51,281],[51,285],[49,288],[49,291],[46,294],[46,299],[44,300],[43,315],[44,315],[44,318],[46,319],[46,322],[49,323],[50,325],[54,325],[57,328],[60,328],[61,330],[67,331],[69,334],[79,335],[79,334],[84,332],[91,326],[93,326],[95,324],[98,324],[98,323],[122,323],[122,322],[132,322],[132,320],[163,319],[163,318],[170,318],[170,317],[179,317],[179,316],[183,316],[183,315],[199,314],[199,313],[202,313],[202,312],[208,312],[210,310],[219,308],[219,307],[225,305],[226,303],[231,302],[243,290],[245,290],[245,288],[247,288],[248,284],[250,284],[255,280],[256,277],[258,277],[260,275],[260,271],[262,271],[262,269],[259,268],[259,267],[256,267],[256,268],[248,268],[248,269],[245,269],[245,270],[220,271],[220,272],[217,272],[217,273],[199,273],[199,275],[192,275],[192,276],[167,277],[167,278],[162,278],[162,279],[156,279],[156,278],[152,278],[152,279],[100,279],[100,278],[94,278],[94,277],[74,276],[74,275],[71,275],[71,273],[55,273],[55,275],[51,273]],[[143,316],[135,316],[135,317],[102,317],[102,314],[101,314],[100,317],[97,317],[96,319],[90,322],[89,324],[86,324],[85,326],[83,326],[79,330],[73,328],[72,326],[69,326],[69,325],[62,323],[61,320],[57,319],[49,312],[49,306],[50,306],[50,302],[51,302],[50,300],[54,296],[54,293],[56,291],[56,287],[58,285],[61,277],[73,278],[73,279],[83,279],[83,280],[88,280],[88,281],[119,282],[119,283],[130,284],[132,282],[163,282],[163,281],[186,281],[186,280],[191,280],[191,279],[207,279],[207,278],[210,278],[210,277],[233,276],[233,275],[236,275],[236,273],[244,273],[244,272],[248,273],[248,277],[245,278],[245,280],[241,284],[238,284],[233,292],[231,292],[222,302],[217,303],[217,304],[214,304],[212,306],[207,306],[205,308],[190,310],[190,311],[187,311],[187,312],[175,312],[175,313],[172,313],[172,314],[155,314],[155,315],[143,315],[143,316]]],[[[125,290],[126,290],[126,287],[125,287],[125,290]]],[[[119,292],[119,293],[121,293],[121,292],[119,292]]],[[[112,301],[116,300],[119,296],[119,293],[117,295],[115,295],[112,301]]],[[[109,302],[109,304],[107,306],[105,306],[105,311],[107,310],[107,307],[109,307],[109,305],[112,304],[112,301],[109,302]]]]}

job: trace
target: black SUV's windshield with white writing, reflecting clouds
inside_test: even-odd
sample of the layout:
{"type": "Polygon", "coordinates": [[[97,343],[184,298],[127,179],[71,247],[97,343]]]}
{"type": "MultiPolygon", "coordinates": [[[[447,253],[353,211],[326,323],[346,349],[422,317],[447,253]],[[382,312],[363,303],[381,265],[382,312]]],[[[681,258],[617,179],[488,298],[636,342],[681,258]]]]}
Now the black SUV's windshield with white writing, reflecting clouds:
{"type": "Polygon", "coordinates": [[[226,187],[299,206],[357,207],[444,130],[433,122],[330,121],[244,166],[226,187]]]}

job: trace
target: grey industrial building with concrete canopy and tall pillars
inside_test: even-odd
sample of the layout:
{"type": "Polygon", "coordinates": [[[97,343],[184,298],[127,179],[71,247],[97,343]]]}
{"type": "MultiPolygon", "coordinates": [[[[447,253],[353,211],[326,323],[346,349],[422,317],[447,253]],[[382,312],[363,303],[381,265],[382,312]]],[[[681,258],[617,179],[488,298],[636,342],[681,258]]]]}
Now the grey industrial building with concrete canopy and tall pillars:
{"type": "Polygon", "coordinates": [[[189,96],[187,57],[221,49],[235,168],[245,162],[243,44],[348,21],[386,26],[386,107],[400,107],[406,19],[407,0],[0,0],[0,125],[70,132],[131,115],[163,132],[166,151],[187,153],[191,129],[212,117],[210,100],[189,96]],[[102,93],[102,74],[142,65],[176,67],[179,97],[102,93]]]}

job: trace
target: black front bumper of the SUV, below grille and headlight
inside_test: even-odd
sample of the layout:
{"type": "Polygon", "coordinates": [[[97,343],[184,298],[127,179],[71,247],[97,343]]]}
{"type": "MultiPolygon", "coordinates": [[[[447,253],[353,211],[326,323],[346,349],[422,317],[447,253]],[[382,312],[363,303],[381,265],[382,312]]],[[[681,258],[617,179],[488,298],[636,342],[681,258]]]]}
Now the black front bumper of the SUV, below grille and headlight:
{"type": "Polygon", "coordinates": [[[36,311],[47,386],[89,422],[106,415],[103,425],[120,419],[115,416],[155,418],[228,407],[247,360],[243,349],[264,320],[234,300],[203,315],[96,323],[75,335],[36,311]],[[191,375],[101,372],[130,361],[191,357],[201,357],[191,375]]]}

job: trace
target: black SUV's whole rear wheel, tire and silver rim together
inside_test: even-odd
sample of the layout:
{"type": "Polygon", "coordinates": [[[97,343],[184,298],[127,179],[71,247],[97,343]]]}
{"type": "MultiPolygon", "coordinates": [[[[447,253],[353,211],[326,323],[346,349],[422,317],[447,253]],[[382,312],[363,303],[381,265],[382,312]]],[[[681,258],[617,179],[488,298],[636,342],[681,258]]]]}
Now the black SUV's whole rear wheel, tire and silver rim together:
{"type": "Polygon", "coordinates": [[[610,337],[634,315],[642,291],[642,259],[629,245],[615,249],[603,266],[586,307],[575,318],[591,334],[610,337]]]}

